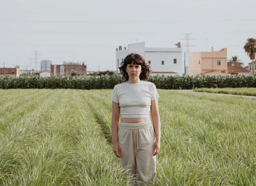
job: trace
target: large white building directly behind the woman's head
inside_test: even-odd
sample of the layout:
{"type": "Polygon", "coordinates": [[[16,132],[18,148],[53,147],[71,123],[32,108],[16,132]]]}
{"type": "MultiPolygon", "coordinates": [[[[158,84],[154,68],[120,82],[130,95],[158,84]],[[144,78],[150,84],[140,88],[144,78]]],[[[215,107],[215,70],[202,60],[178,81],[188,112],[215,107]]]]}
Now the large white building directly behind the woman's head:
{"type": "Polygon", "coordinates": [[[182,48],[180,43],[175,45],[178,48],[146,48],[145,42],[130,44],[124,50],[119,46],[116,51],[117,72],[120,72],[118,67],[129,53],[138,53],[150,64],[151,75],[182,76],[182,48]]]}

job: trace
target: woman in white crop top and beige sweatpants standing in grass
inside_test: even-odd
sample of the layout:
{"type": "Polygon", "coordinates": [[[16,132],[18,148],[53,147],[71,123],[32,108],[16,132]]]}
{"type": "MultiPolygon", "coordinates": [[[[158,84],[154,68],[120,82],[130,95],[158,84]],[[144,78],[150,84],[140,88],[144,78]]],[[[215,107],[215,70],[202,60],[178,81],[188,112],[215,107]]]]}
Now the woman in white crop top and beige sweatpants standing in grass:
{"type": "Polygon", "coordinates": [[[111,96],[113,151],[125,173],[154,183],[160,149],[159,95],[155,84],[146,81],[150,69],[142,56],[129,54],[119,69],[125,82],[115,85],[111,96]]]}

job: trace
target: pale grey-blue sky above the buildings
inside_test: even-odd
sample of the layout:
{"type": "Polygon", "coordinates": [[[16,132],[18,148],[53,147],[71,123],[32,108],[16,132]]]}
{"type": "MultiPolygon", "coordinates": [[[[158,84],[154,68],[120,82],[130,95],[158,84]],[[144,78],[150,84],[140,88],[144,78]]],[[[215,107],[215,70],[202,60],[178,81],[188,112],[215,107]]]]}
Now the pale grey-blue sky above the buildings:
{"type": "MultiPolygon", "coordinates": [[[[191,34],[190,52],[228,48],[228,59],[256,38],[255,0],[0,0],[0,67],[34,68],[40,60],[85,62],[87,71],[116,70],[118,46],[176,48],[191,34]],[[207,44],[206,44],[207,43],[207,44]]],[[[183,47],[185,50],[185,47],[183,47]]],[[[38,66],[39,70],[39,66],[38,66]]]]}

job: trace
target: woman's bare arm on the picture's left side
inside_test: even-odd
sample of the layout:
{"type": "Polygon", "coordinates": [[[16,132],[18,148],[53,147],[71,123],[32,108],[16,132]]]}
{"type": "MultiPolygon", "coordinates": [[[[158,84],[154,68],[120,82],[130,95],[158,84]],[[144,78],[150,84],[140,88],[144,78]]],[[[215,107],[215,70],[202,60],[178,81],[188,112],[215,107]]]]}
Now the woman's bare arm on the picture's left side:
{"type": "Polygon", "coordinates": [[[118,145],[118,125],[120,118],[120,107],[119,103],[112,101],[112,118],[111,118],[111,132],[113,141],[113,152],[120,158],[120,147],[118,145]]]}

